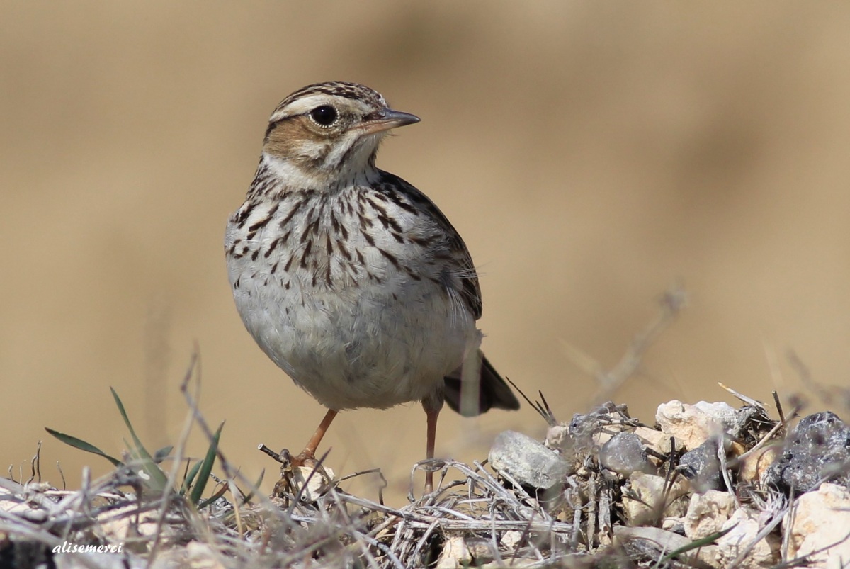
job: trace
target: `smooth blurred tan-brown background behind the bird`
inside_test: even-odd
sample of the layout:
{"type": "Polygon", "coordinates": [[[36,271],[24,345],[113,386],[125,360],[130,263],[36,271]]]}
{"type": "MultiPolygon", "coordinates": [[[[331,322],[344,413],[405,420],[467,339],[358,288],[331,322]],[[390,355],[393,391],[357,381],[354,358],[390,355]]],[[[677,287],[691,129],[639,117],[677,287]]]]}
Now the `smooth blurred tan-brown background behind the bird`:
{"type": "MultiPolygon", "coordinates": [[[[788,350],[850,383],[850,4],[2,6],[0,463],[16,478],[39,440],[43,478],[60,483],[56,461],[71,485],[83,464],[104,473],[42,428],[117,454],[109,386],[150,447],[175,442],[196,344],[201,410],[270,490],[258,443],[300,449],[324,409],[242,327],[224,223],[269,113],[326,80],[422,117],[378,165],[461,232],[484,349],[559,419],[597,389],[568,346],[613,367],[674,282],[689,308],[610,394],[638,418],[674,398],[737,405],[718,381],[788,397],[788,350]]],[[[437,450],[482,459],[498,430],[545,427],[528,405],[446,411],[437,450]]],[[[343,413],[323,447],[337,474],[380,467],[400,495],[424,413],[343,413]]]]}

